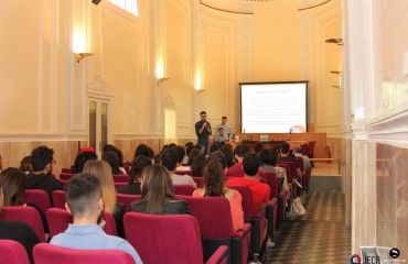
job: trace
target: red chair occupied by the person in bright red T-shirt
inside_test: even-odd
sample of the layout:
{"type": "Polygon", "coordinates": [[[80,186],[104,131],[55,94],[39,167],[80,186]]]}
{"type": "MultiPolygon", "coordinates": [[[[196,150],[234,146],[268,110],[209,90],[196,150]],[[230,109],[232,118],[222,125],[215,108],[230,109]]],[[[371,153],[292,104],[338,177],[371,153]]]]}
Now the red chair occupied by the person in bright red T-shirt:
{"type": "MultiPolygon", "coordinates": [[[[258,211],[255,216],[253,215],[253,196],[248,186],[229,186],[232,189],[239,191],[243,197],[243,210],[245,222],[251,224],[251,253],[259,255],[264,245],[264,230],[266,211],[258,211]]],[[[255,261],[257,261],[255,258],[255,261]]]]}

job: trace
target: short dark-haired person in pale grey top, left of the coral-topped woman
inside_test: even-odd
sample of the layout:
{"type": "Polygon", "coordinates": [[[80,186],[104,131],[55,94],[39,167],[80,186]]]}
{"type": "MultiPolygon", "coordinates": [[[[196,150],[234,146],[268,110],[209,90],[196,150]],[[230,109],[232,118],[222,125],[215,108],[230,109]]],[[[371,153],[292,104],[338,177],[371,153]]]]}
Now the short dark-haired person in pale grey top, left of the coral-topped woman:
{"type": "Polygon", "coordinates": [[[178,175],[174,173],[178,162],[179,154],[175,148],[165,150],[160,155],[160,163],[169,170],[173,185],[192,185],[194,188],[196,188],[197,185],[192,177],[189,175],[178,175]]]}

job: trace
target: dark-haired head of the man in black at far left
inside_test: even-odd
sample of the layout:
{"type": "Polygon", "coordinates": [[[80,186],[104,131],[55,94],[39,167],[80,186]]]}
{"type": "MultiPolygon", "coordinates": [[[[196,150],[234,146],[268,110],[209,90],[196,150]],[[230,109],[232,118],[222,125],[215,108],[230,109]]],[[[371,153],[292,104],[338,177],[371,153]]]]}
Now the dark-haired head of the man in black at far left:
{"type": "Polygon", "coordinates": [[[55,164],[54,151],[45,145],[39,146],[31,152],[31,162],[34,173],[51,174],[55,164]]]}

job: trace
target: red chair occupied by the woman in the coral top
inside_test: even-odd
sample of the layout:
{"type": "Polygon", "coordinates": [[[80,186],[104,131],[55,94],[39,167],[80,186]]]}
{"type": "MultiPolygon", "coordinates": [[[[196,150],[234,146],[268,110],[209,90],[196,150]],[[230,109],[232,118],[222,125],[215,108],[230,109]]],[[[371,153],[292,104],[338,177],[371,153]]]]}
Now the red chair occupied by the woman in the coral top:
{"type": "Polygon", "coordinates": [[[250,224],[233,230],[229,201],[224,197],[178,196],[189,202],[191,213],[197,219],[204,239],[204,258],[219,245],[229,248],[229,263],[248,263],[250,224]],[[216,223],[216,224],[215,224],[216,223]]]}

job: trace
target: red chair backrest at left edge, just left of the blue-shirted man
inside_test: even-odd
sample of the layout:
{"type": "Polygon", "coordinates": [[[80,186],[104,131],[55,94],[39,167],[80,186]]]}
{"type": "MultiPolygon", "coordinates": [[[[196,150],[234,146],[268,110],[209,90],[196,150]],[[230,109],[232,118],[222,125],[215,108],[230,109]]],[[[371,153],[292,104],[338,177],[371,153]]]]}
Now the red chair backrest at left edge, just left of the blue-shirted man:
{"type": "Polygon", "coordinates": [[[3,207],[0,220],[24,222],[34,230],[41,242],[45,242],[40,212],[33,207],[3,207]]]}

